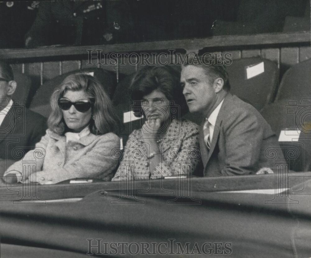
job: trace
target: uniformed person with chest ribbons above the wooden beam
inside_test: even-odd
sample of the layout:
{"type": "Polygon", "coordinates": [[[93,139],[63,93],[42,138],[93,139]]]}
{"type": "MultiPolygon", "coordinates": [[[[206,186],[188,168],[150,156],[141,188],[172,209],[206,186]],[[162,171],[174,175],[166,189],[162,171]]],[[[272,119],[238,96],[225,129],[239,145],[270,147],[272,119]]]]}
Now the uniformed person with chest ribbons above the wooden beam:
{"type": "Polygon", "coordinates": [[[127,1],[42,1],[25,45],[124,43],[133,35],[127,1]]]}

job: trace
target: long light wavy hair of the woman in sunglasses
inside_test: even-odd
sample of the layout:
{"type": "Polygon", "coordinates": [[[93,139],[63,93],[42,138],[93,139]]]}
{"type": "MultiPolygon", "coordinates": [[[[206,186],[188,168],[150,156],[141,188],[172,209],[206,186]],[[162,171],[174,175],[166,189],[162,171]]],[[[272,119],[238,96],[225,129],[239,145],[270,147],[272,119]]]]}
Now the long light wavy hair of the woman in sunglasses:
{"type": "Polygon", "coordinates": [[[104,91],[104,87],[93,76],[84,73],[68,75],[54,90],[50,100],[52,112],[48,119],[50,130],[60,135],[70,130],[64,121],[62,109],[58,106],[58,99],[63,97],[69,90],[83,90],[90,98],[93,104],[92,118],[89,125],[92,134],[119,133],[121,123],[108,95],[104,91]]]}

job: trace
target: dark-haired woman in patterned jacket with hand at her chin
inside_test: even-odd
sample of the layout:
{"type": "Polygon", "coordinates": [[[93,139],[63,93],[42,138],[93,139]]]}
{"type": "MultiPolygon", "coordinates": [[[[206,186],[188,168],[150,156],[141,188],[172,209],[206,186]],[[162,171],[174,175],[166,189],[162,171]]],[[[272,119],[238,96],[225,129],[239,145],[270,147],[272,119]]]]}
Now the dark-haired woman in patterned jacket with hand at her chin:
{"type": "Polygon", "coordinates": [[[180,72],[171,66],[145,66],[131,84],[134,115],[142,128],[134,130],[124,147],[123,161],[135,160],[133,169],[120,166],[112,179],[158,179],[189,176],[199,163],[199,127],[182,119],[188,106],[180,86],[180,72]],[[177,170],[176,164],[187,164],[177,170]]]}

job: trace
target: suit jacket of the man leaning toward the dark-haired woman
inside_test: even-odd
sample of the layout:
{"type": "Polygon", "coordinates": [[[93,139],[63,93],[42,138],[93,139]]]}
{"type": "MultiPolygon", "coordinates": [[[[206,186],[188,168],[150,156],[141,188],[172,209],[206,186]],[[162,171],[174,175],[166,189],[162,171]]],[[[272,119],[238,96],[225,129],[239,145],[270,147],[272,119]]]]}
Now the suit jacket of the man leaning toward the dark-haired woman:
{"type": "Polygon", "coordinates": [[[262,167],[274,170],[274,160],[265,151],[274,147],[278,160],[284,159],[270,125],[251,105],[228,93],[217,116],[211,149],[204,143],[200,128],[200,149],[204,176],[230,176],[256,173],[262,167]]]}

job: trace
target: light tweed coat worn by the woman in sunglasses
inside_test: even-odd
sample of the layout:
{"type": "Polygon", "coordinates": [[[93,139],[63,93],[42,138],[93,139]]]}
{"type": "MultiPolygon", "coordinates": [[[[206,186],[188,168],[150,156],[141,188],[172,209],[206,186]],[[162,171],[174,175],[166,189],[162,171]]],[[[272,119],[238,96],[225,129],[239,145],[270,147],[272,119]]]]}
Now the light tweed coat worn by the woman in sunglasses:
{"type": "MultiPolygon", "coordinates": [[[[113,133],[104,135],[90,133],[81,137],[79,143],[66,144],[65,136],[47,129],[35,149],[27,152],[22,160],[11,165],[7,172],[12,170],[22,172],[22,165],[27,163],[31,164],[28,166],[30,174],[37,170],[36,182],[41,184],[58,183],[79,177],[110,181],[112,172],[118,164],[118,160],[111,156],[111,150],[115,147],[120,147],[120,140],[113,133]],[[40,156],[42,153],[44,157],[40,156]]],[[[27,177],[30,178],[24,175],[23,180],[27,177]]]]}

